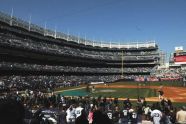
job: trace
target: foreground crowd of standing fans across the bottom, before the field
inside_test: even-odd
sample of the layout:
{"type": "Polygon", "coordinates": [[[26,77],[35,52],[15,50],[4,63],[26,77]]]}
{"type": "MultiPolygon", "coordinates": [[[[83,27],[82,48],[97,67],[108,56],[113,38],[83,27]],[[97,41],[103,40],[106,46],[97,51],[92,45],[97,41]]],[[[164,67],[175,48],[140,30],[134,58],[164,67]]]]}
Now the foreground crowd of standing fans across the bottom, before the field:
{"type": "Polygon", "coordinates": [[[163,98],[135,105],[129,98],[65,97],[54,92],[26,90],[0,98],[0,120],[6,124],[184,124],[186,108],[176,108],[163,98]],[[6,111],[3,113],[2,111],[6,111]]]}

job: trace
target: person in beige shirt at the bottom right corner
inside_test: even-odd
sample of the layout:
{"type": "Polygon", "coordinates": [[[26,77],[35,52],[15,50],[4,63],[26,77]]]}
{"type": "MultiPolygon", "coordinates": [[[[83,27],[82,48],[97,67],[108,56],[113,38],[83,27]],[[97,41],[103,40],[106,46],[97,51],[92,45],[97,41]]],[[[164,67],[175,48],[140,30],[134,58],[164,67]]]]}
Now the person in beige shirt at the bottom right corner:
{"type": "Polygon", "coordinates": [[[186,123],[186,107],[183,106],[180,108],[180,110],[176,113],[176,121],[179,124],[185,124],[186,123]]]}

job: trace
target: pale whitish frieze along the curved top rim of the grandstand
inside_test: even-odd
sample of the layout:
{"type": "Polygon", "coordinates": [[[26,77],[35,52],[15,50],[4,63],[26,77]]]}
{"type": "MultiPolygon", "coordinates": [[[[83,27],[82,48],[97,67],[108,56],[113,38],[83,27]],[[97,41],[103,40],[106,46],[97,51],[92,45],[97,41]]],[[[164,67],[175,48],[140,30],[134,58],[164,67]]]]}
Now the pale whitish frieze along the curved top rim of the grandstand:
{"type": "Polygon", "coordinates": [[[78,44],[84,44],[84,45],[90,45],[90,46],[97,46],[97,47],[106,47],[106,48],[124,48],[124,49],[131,49],[131,48],[155,48],[157,47],[157,44],[155,41],[147,41],[147,42],[133,42],[133,43],[109,43],[109,42],[98,42],[98,41],[91,41],[84,38],[80,38],[74,35],[65,34],[62,32],[56,32],[50,29],[43,28],[41,26],[32,24],[30,22],[24,21],[20,18],[10,16],[8,14],[5,14],[3,12],[0,12],[0,21],[9,24],[10,26],[17,26],[21,27],[23,29],[26,29],[28,31],[37,32],[39,34],[42,34],[44,36],[50,36],[53,38],[58,39],[65,39],[67,41],[73,41],[78,44]]]}

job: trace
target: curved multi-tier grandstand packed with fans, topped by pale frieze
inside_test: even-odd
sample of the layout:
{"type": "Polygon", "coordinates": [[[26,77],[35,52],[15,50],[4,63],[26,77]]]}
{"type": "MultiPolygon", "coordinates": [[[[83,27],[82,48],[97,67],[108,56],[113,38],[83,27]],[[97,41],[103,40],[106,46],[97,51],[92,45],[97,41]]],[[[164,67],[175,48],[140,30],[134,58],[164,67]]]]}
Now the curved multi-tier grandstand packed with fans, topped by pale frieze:
{"type": "Polygon", "coordinates": [[[102,43],[52,31],[0,13],[1,80],[114,82],[150,75],[159,65],[155,41],[102,43]]]}

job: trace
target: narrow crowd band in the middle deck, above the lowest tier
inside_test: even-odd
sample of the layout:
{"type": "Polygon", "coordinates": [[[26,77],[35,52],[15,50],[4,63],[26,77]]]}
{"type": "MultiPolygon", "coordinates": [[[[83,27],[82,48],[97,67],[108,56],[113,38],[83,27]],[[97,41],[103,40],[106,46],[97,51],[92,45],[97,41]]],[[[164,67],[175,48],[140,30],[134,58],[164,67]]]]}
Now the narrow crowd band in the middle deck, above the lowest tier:
{"type": "MultiPolygon", "coordinates": [[[[121,74],[121,68],[93,68],[93,67],[78,67],[78,66],[52,66],[52,65],[38,65],[28,63],[15,62],[0,62],[0,69],[3,70],[31,70],[31,71],[49,71],[49,72],[83,72],[83,73],[117,73],[121,74]]],[[[124,72],[151,72],[152,67],[134,67],[123,68],[124,72]]]]}

